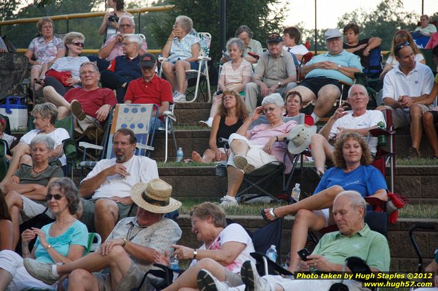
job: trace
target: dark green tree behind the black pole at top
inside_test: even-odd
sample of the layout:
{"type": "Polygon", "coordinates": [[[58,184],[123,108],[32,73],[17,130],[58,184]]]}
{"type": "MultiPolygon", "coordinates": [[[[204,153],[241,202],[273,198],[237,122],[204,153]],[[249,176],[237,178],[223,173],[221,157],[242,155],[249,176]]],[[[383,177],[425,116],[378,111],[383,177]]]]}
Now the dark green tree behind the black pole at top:
{"type": "MultiPolygon", "coordinates": [[[[280,6],[280,0],[240,0],[227,1],[226,39],[234,37],[235,29],[248,25],[254,31],[253,38],[262,45],[266,36],[273,31],[280,31],[287,8],[280,6]]],[[[211,34],[210,55],[218,60],[220,51],[220,0],[168,0],[159,1],[157,5],[175,5],[175,8],[159,18],[151,18],[152,30],[157,44],[163,47],[168,38],[176,16],[187,15],[192,18],[196,31],[211,34]]]]}

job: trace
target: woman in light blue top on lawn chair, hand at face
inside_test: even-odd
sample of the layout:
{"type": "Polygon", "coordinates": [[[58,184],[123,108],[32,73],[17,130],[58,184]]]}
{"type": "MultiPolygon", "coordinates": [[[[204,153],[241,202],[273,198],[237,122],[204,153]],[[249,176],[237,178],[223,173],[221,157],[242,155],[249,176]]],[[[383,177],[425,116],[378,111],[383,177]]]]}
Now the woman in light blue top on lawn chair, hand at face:
{"type": "Polygon", "coordinates": [[[162,70],[165,78],[172,85],[175,102],[185,101],[187,81],[185,71],[197,70],[199,63],[199,38],[190,34],[193,29],[191,18],[180,15],[176,17],[172,32],[163,47],[163,57],[168,62],[163,62],[162,70]]]}

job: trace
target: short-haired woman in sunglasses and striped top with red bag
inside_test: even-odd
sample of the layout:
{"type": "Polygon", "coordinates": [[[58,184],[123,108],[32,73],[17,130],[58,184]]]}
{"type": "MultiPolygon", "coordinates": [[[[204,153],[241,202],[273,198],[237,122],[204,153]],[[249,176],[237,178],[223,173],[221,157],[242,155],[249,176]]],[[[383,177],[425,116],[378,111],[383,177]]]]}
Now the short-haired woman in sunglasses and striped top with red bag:
{"type": "Polygon", "coordinates": [[[39,81],[40,84],[45,87],[53,87],[61,96],[64,96],[65,92],[69,89],[81,86],[79,68],[82,63],[89,62],[87,57],[80,57],[85,41],[83,34],[71,31],[64,36],[63,40],[65,48],[67,49],[67,57],[56,60],[49,70],[54,70],[56,72],[70,72],[71,77],[61,81],[59,77],[50,77],[47,76],[46,73],[44,81],[39,81]]]}

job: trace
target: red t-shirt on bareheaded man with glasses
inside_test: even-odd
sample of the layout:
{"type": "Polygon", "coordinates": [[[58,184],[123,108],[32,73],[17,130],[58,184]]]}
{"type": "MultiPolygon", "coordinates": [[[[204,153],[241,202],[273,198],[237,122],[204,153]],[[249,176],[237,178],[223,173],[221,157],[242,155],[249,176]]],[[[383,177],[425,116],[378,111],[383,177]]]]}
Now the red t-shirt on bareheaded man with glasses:
{"type": "Polygon", "coordinates": [[[108,88],[97,88],[89,91],[83,88],[73,88],[65,93],[64,98],[69,103],[74,99],[78,100],[84,113],[93,118],[96,118],[96,111],[102,105],[109,104],[113,107],[117,104],[113,90],[108,88]]]}

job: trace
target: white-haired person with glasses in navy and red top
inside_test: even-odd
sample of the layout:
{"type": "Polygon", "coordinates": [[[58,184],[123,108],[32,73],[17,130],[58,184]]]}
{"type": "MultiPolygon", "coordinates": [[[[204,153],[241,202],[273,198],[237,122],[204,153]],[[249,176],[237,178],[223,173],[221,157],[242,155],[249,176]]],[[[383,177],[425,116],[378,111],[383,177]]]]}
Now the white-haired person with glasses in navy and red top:
{"type": "Polygon", "coordinates": [[[139,61],[142,44],[143,38],[139,35],[125,34],[122,41],[124,55],[116,57],[100,74],[102,87],[116,90],[118,103],[123,103],[129,82],[141,77],[139,61]]]}

